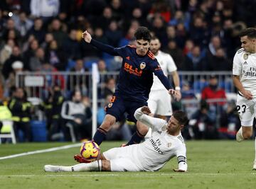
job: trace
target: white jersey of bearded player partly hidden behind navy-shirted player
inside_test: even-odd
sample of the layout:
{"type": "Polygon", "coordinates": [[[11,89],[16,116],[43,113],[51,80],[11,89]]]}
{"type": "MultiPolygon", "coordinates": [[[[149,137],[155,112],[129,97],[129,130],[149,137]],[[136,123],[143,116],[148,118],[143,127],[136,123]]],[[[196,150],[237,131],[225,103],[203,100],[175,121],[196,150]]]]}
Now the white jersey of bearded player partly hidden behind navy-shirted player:
{"type": "MultiPolygon", "coordinates": [[[[154,57],[159,62],[161,69],[164,72],[164,75],[167,76],[169,72],[177,70],[176,64],[174,63],[174,59],[171,57],[171,55],[165,52],[161,52],[159,50],[158,54],[154,57]]],[[[151,86],[151,91],[156,91],[156,90],[166,90],[166,88],[158,79],[158,77],[154,75],[154,82],[153,82],[153,85],[151,86]]]]}

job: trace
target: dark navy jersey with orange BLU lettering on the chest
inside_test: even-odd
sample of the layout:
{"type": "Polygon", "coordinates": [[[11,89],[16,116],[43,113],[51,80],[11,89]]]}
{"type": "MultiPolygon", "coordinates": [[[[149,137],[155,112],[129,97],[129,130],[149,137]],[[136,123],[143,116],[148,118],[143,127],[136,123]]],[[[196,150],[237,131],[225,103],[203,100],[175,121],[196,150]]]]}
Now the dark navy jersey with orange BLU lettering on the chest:
{"type": "Polygon", "coordinates": [[[153,73],[159,77],[167,90],[171,88],[169,80],[164,76],[152,52],[148,51],[145,56],[139,56],[133,45],[114,48],[96,40],[92,40],[91,44],[110,55],[122,57],[122,67],[115,93],[122,95],[123,98],[147,101],[153,84],[153,73]]]}

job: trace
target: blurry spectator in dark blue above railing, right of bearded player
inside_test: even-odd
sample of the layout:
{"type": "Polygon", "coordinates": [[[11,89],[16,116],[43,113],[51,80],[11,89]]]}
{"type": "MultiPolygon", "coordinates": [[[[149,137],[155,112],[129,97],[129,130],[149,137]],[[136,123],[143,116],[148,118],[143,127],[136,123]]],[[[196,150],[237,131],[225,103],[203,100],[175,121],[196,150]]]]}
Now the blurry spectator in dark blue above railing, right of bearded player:
{"type": "Polygon", "coordinates": [[[192,52],[186,55],[182,69],[188,71],[202,71],[208,69],[199,46],[194,46],[192,52]]]}

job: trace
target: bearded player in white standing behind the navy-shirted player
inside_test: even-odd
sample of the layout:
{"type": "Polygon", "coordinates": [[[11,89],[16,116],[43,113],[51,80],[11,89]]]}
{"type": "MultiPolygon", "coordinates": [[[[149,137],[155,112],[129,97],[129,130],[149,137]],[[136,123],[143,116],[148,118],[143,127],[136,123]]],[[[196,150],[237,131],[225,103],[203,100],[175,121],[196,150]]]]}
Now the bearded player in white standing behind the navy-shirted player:
{"type": "MultiPolygon", "coordinates": [[[[181,100],[180,81],[174,59],[171,55],[160,50],[161,43],[158,38],[153,37],[149,44],[150,51],[159,62],[164,74],[167,76],[168,73],[171,73],[175,90],[177,91],[176,100],[181,100]]],[[[155,75],[154,82],[149,93],[148,105],[152,114],[157,118],[166,119],[166,116],[170,116],[172,114],[171,96],[166,92],[164,85],[161,84],[161,81],[155,75]]]]}

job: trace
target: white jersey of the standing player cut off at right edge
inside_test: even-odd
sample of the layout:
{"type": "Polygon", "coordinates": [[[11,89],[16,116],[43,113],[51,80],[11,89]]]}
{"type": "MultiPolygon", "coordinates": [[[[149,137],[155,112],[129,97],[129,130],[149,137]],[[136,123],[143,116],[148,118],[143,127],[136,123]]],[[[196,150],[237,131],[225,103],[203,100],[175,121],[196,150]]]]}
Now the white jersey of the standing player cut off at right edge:
{"type": "Polygon", "coordinates": [[[233,59],[233,75],[240,76],[242,86],[256,97],[256,53],[245,52],[241,48],[233,59]]]}

